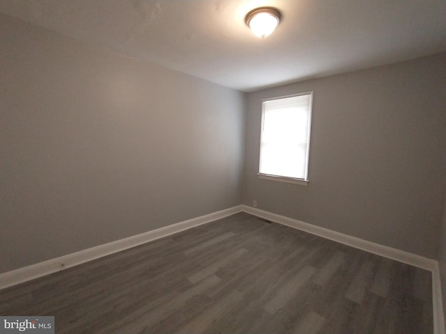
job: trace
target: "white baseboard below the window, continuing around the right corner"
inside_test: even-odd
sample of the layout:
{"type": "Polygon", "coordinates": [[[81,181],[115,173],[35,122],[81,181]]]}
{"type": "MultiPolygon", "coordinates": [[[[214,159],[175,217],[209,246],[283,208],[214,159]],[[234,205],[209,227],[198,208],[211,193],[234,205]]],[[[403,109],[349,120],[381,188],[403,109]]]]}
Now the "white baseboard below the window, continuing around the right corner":
{"type": "Polygon", "coordinates": [[[432,303],[433,303],[433,333],[445,334],[445,321],[443,315],[443,299],[441,294],[440,271],[438,269],[438,261],[405,252],[396,248],[375,244],[374,242],[352,237],[347,234],[321,228],[320,226],[298,221],[279,214],[272,214],[271,212],[263,211],[255,207],[242,205],[242,211],[247,214],[252,214],[268,221],[273,221],[282,225],[289,226],[298,230],[309,232],[325,239],[337,241],[347,246],[352,246],[369,253],[374,253],[392,260],[397,260],[414,267],[422,268],[431,271],[432,273],[432,303]]]}

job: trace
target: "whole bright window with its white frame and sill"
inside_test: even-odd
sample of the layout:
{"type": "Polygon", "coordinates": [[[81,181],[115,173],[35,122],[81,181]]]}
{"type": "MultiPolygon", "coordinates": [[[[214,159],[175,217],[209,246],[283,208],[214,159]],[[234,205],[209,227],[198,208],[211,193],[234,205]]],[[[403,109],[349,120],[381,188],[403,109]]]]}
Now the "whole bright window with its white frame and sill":
{"type": "Polygon", "coordinates": [[[313,93],[263,100],[259,177],[308,182],[313,93]]]}

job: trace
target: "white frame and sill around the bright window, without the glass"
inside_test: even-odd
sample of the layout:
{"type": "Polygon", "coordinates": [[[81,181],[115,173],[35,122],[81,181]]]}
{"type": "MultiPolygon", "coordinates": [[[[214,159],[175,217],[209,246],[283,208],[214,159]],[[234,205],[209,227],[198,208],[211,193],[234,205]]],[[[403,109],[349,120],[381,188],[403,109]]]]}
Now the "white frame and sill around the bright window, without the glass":
{"type": "Polygon", "coordinates": [[[278,182],[286,182],[286,183],[292,183],[292,184],[300,184],[302,186],[307,186],[309,183],[308,179],[308,166],[309,166],[309,149],[310,149],[310,135],[311,135],[311,129],[312,129],[312,112],[313,112],[313,91],[305,92],[305,93],[298,93],[293,95],[284,95],[279,97],[271,97],[268,99],[262,100],[262,113],[261,113],[261,138],[260,138],[260,146],[259,146],[259,178],[264,180],[273,180],[278,182]],[[283,175],[270,175],[265,173],[260,173],[260,166],[261,166],[261,144],[263,143],[263,122],[265,121],[265,102],[272,101],[272,100],[280,100],[285,99],[287,97],[296,97],[296,96],[302,96],[302,95],[309,95],[309,113],[308,113],[308,132],[307,132],[307,157],[305,159],[305,177],[303,179],[296,178],[296,177],[287,177],[283,175]]]}

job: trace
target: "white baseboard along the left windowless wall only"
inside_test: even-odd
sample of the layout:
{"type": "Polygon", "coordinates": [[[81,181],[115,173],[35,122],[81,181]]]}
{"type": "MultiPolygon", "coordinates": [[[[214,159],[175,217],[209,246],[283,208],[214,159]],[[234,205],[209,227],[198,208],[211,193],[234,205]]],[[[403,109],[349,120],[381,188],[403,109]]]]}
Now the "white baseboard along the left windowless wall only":
{"type": "Polygon", "coordinates": [[[91,260],[95,260],[113,253],[117,253],[121,250],[132,248],[134,246],[146,244],[146,242],[148,241],[167,237],[171,234],[188,230],[198,225],[210,223],[211,221],[215,221],[226,216],[231,216],[231,214],[236,214],[241,211],[241,206],[238,205],[229,209],[213,212],[212,214],[206,214],[204,216],[192,218],[187,221],[181,221],[180,223],[168,225],[163,228],[157,228],[156,230],[137,234],[132,237],[112,241],[108,244],[102,244],[100,246],[80,250],[76,253],[32,264],[31,266],[7,271],[6,273],[0,274],[0,289],[24,283],[28,280],[33,280],[34,278],[49,275],[50,273],[55,273],[56,271],[75,267],[79,264],[89,262],[91,260]]]}

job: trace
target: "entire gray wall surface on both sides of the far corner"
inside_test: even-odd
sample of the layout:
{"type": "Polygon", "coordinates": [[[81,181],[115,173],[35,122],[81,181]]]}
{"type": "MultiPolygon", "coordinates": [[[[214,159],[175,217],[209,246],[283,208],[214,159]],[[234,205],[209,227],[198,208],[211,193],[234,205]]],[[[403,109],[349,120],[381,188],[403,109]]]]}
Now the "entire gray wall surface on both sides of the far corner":
{"type": "Polygon", "coordinates": [[[0,45],[0,273],[242,199],[436,257],[446,54],[249,93],[245,106],[236,90],[4,15],[0,45]],[[308,90],[309,185],[260,180],[261,99],[308,90]]]}

